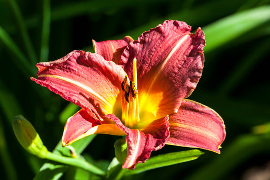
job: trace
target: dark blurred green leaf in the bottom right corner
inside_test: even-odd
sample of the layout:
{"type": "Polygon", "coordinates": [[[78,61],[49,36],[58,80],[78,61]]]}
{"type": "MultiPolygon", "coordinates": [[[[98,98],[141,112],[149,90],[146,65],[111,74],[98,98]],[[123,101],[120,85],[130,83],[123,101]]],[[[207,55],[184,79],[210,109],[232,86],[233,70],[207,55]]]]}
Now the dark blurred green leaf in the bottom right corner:
{"type": "MultiPolygon", "coordinates": [[[[228,174],[232,174],[237,167],[242,167],[244,162],[256,155],[262,155],[270,151],[270,136],[267,134],[253,135],[243,134],[235,138],[233,142],[222,150],[218,158],[194,171],[186,179],[200,180],[209,179],[229,179],[228,174]]],[[[246,165],[246,164],[245,164],[246,165]]]]}

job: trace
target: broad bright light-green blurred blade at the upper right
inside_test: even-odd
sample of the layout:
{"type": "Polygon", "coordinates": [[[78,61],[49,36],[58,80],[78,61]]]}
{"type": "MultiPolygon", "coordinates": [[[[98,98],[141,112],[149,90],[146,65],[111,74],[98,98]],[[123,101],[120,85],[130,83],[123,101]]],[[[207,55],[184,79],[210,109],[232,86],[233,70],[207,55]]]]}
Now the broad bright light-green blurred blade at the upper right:
{"type": "Polygon", "coordinates": [[[213,51],[269,20],[270,6],[254,8],[220,19],[203,28],[206,39],[204,51],[213,51]]]}

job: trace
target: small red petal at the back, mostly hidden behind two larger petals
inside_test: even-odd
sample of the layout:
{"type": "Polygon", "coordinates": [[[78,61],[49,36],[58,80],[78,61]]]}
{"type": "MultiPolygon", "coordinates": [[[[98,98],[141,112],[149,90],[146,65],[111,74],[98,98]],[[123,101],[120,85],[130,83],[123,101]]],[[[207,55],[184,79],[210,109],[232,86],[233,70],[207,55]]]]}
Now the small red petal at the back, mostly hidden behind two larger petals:
{"type": "Polygon", "coordinates": [[[113,61],[115,64],[121,59],[121,55],[124,49],[128,46],[133,39],[129,36],[125,37],[123,40],[112,40],[112,41],[102,41],[96,42],[93,40],[93,45],[95,52],[107,61],[113,61]]]}

